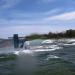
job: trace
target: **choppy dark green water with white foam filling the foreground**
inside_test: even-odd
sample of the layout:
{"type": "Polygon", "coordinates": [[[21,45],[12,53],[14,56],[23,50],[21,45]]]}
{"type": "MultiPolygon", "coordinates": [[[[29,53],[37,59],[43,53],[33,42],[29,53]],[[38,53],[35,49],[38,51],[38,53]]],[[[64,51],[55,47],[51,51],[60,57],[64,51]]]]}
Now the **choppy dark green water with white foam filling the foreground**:
{"type": "MultiPolygon", "coordinates": [[[[39,41],[31,42],[31,46],[39,41]]],[[[46,46],[26,50],[1,48],[0,75],[75,75],[74,41],[54,41],[46,46]]]]}

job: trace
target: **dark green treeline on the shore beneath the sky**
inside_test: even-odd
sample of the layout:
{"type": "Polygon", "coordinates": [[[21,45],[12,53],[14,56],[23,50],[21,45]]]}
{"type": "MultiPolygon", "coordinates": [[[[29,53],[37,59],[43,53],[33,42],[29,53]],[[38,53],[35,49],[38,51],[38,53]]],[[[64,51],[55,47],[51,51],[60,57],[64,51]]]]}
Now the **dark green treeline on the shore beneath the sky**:
{"type": "Polygon", "coordinates": [[[32,34],[25,37],[27,40],[33,39],[59,39],[59,38],[75,38],[75,30],[66,30],[64,32],[59,33],[52,33],[49,32],[48,34],[32,34]]]}

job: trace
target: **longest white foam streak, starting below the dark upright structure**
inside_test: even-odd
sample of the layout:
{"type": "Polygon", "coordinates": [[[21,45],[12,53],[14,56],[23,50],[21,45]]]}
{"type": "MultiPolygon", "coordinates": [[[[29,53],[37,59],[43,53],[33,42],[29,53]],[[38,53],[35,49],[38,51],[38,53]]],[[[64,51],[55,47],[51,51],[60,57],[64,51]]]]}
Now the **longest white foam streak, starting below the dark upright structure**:
{"type": "Polygon", "coordinates": [[[16,54],[16,55],[19,55],[19,54],[33,54],[35,52],[55,51],[55,50],[58,50],[58,49],[62,49],[62,47],[59,47],[57,45],[51,45],[51,46],[48,46],[48,48],[47,47],[41,47],[41,46],[38,46],[38,48],[36,48],[34,46],[31,49],[14,51],[14,54],[16,54]]]}

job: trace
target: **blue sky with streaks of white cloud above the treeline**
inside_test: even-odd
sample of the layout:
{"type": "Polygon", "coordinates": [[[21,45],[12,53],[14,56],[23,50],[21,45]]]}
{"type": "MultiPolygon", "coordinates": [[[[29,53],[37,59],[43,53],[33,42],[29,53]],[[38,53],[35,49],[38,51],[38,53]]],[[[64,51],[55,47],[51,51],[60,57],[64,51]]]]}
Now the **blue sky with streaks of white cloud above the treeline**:
{"type": "Polygon", "coordinates": [[[0,38],[75,29],[75,0],[0,0],[0,38]]]}

